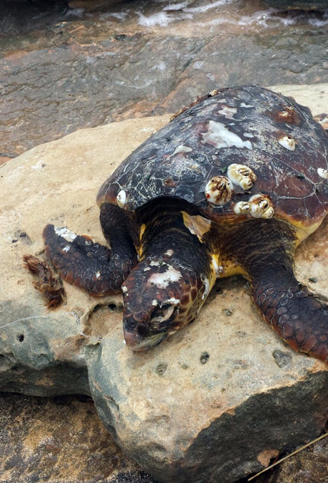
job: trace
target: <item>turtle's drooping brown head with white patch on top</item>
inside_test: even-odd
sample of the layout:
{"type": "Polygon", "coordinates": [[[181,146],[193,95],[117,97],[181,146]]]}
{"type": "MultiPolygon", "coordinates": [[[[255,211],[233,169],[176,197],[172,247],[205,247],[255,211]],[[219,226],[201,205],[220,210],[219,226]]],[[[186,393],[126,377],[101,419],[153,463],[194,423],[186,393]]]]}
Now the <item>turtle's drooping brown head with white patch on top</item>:
{"type": "Polygon", "coordinates": [[[193,321],[204,301],[201,278],[170,256],[141,261],[122,286],[125,343],[145,350],[193,321]]]}

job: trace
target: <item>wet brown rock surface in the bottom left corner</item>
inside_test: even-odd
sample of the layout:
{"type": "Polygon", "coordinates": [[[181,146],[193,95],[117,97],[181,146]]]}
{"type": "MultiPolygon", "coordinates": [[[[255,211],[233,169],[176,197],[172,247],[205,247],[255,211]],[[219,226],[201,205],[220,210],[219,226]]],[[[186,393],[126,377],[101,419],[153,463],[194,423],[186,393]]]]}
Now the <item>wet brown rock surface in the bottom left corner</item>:
{"type": "Polygon", "coordinates": [[[156,483],[122,454],[91,398],[0,395],[0,481],[156,483]]]}

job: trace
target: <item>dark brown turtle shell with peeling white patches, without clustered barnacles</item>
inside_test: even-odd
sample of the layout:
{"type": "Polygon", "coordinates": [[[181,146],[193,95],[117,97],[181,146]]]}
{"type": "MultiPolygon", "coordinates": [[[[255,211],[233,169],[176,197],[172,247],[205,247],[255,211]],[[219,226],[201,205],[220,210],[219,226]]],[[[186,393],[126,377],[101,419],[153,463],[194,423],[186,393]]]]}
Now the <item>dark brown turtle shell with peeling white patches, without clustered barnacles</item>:
{"type": "Polygon", "coordinates": [[[271,199],[275,217],[311,226],[327,212],[328,180],[318,174],[327,170],[327,149],[327,133],[293,98],[257,85],[227,88],[143,142],[103,184],[97,202],[134,211],[157,197],[178,197],[210,219],[242,222],[249,215],[233,207],[261,193],[271,199]],[[226,176],[232,163],[250,167],[254,185],[248,191],[234,185],[225,204],[207,202],[207,183],[226,176]]]}

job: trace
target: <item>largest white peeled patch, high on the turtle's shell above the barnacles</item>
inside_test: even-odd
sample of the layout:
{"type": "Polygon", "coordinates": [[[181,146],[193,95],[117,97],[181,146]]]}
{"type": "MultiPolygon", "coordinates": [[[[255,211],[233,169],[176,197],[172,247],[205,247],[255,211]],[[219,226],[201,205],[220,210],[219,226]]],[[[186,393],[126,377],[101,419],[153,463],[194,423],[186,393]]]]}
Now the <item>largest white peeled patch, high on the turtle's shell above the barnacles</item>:
{"type": "Polygon", "coordinates": [[[207,142],[207,144],[215,146],[217,149],[232,146],[247,147],[249,150],[252,149],[252,143],[250,141],[243,141],[237,134],[231,133],[224,124],[210,120],[207,125],[207,133],[201,133],[204,140],[203,142],[207,142]]]}

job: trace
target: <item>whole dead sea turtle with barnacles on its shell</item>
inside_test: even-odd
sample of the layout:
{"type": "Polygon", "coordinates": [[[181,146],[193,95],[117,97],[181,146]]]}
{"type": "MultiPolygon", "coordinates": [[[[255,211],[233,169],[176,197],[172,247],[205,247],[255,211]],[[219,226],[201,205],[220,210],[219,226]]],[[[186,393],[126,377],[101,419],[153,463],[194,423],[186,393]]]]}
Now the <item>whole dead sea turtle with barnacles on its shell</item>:
{"type": "Polygon", "coordinates": [[[293,274],[328,207],[328,137],[308,108],[257,85],[215,90],[143,142],[101,187],[111,249],[48,224],[46,256],[93,296],[122,289],[125,341],[160,343],[217,277],[242,274],[265,321],[328,360],[328,308],[293,274]]]}

